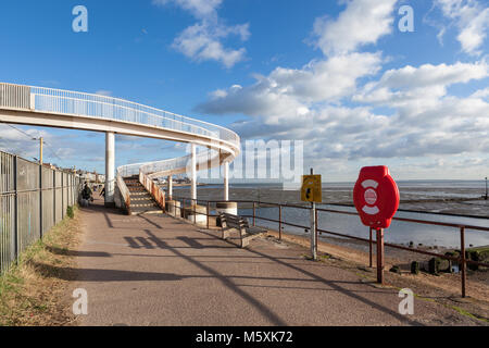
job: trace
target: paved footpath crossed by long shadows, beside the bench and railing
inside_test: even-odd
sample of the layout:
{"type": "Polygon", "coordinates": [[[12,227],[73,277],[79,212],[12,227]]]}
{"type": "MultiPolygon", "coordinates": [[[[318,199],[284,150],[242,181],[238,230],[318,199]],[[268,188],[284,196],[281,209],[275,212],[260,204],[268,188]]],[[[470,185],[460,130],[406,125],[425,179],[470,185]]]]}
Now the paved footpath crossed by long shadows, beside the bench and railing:
{"type": "MultiPolygon", "coordinates": [[[[98,202],[100,203],[100,202],[98,202]]],[[[294,245],[255,239],[239,249],[165,215],[82,209],[75,288],[88,293],[82,325],[469,325],[416,300],[401,315],[392,289],[351,271],[304,260],[294,245]]]]}

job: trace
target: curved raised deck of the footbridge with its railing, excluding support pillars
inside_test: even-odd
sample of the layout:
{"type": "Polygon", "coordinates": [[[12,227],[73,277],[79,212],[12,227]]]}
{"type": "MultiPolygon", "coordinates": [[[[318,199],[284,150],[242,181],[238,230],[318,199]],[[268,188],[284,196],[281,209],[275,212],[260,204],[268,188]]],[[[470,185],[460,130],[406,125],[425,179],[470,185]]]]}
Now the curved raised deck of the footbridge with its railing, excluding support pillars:
{"type": "MultiPolygon", "coordinates": [[[[209,149],[209,156],[200,157],[206,167],[229,163],[240,151],[239,136],[218,125],[118,98],[45,87],[0,83],[0,122],[191,142],[209,149]]],[[[187,162],[187,157],[166,160],[154,171],[179,174],[187,162]]],[[[118,172],[139,174],[141,165],[118,172]]]]}

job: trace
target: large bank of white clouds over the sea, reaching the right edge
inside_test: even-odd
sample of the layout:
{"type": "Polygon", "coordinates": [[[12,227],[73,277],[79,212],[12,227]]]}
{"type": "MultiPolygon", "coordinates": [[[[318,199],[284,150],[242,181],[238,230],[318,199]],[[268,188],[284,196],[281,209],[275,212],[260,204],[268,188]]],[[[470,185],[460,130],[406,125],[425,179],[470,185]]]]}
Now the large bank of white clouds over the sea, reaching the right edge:
{"type": "Polygon", "coordinates": [[[300,69],[278,66],[249,86],[217,89],[199,111],[250,116],[233,124],[242,138],[303,139],[304,163],[339,179],[356,175],[359,163],[392,164],[401,173],[426,160],[456,166],[457,175],[462,165],[480,169],[477,153],[489,151],[489,92],[462,98],[449,88],[488,78],[488,64],[404,65],[376,76],[383,53],[359,50],[391,32],[394,3],[349,1],[337,20],[316,21],[325,58],[300,69]],[[359,26],[363,33],[354,30],[359,26]]]}

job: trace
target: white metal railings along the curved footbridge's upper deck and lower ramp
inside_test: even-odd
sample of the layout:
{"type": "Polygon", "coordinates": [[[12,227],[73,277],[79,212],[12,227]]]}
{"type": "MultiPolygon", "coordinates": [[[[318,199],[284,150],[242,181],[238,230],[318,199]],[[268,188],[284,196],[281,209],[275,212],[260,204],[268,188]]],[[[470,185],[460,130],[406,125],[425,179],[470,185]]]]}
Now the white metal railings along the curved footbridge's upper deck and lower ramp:
{"type": "MultiPolygon", "coordinates": [[[[239,152],[239,136],[230,129],[108,96],[0,83],[0,108],[100,117],[161,127],[206,137],[211,148],[234,150],[233,158],[239,152]]],[[[211,152],[200,153],[198,164],[208,161],[210,154],[211,152]]],[[[138,175],[141,166],[145,167],[146,174],[150,174],[151,171],[181,172],[187,167],[189,157],[187,156],[159,162],[129,164],[118,167],[117,175],[138,175]]],[[[215,161],[213,162],[215,163],[215,161]]],[[[221,164],[220,161],[217,163],[221,164]]]]}

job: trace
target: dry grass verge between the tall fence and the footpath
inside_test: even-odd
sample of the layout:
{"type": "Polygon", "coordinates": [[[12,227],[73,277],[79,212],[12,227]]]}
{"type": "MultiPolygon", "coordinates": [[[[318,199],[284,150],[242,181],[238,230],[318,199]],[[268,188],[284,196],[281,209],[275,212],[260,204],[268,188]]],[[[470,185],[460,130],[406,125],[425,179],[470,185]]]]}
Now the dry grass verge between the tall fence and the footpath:
{"type": "Polygon", "coordinates": [[[66,216],[27,248],[18,262],[0,276],[0,325],[70,325],[66,287],[75,279],[73,248],[78,244],[80,221],[66,216]]]}

